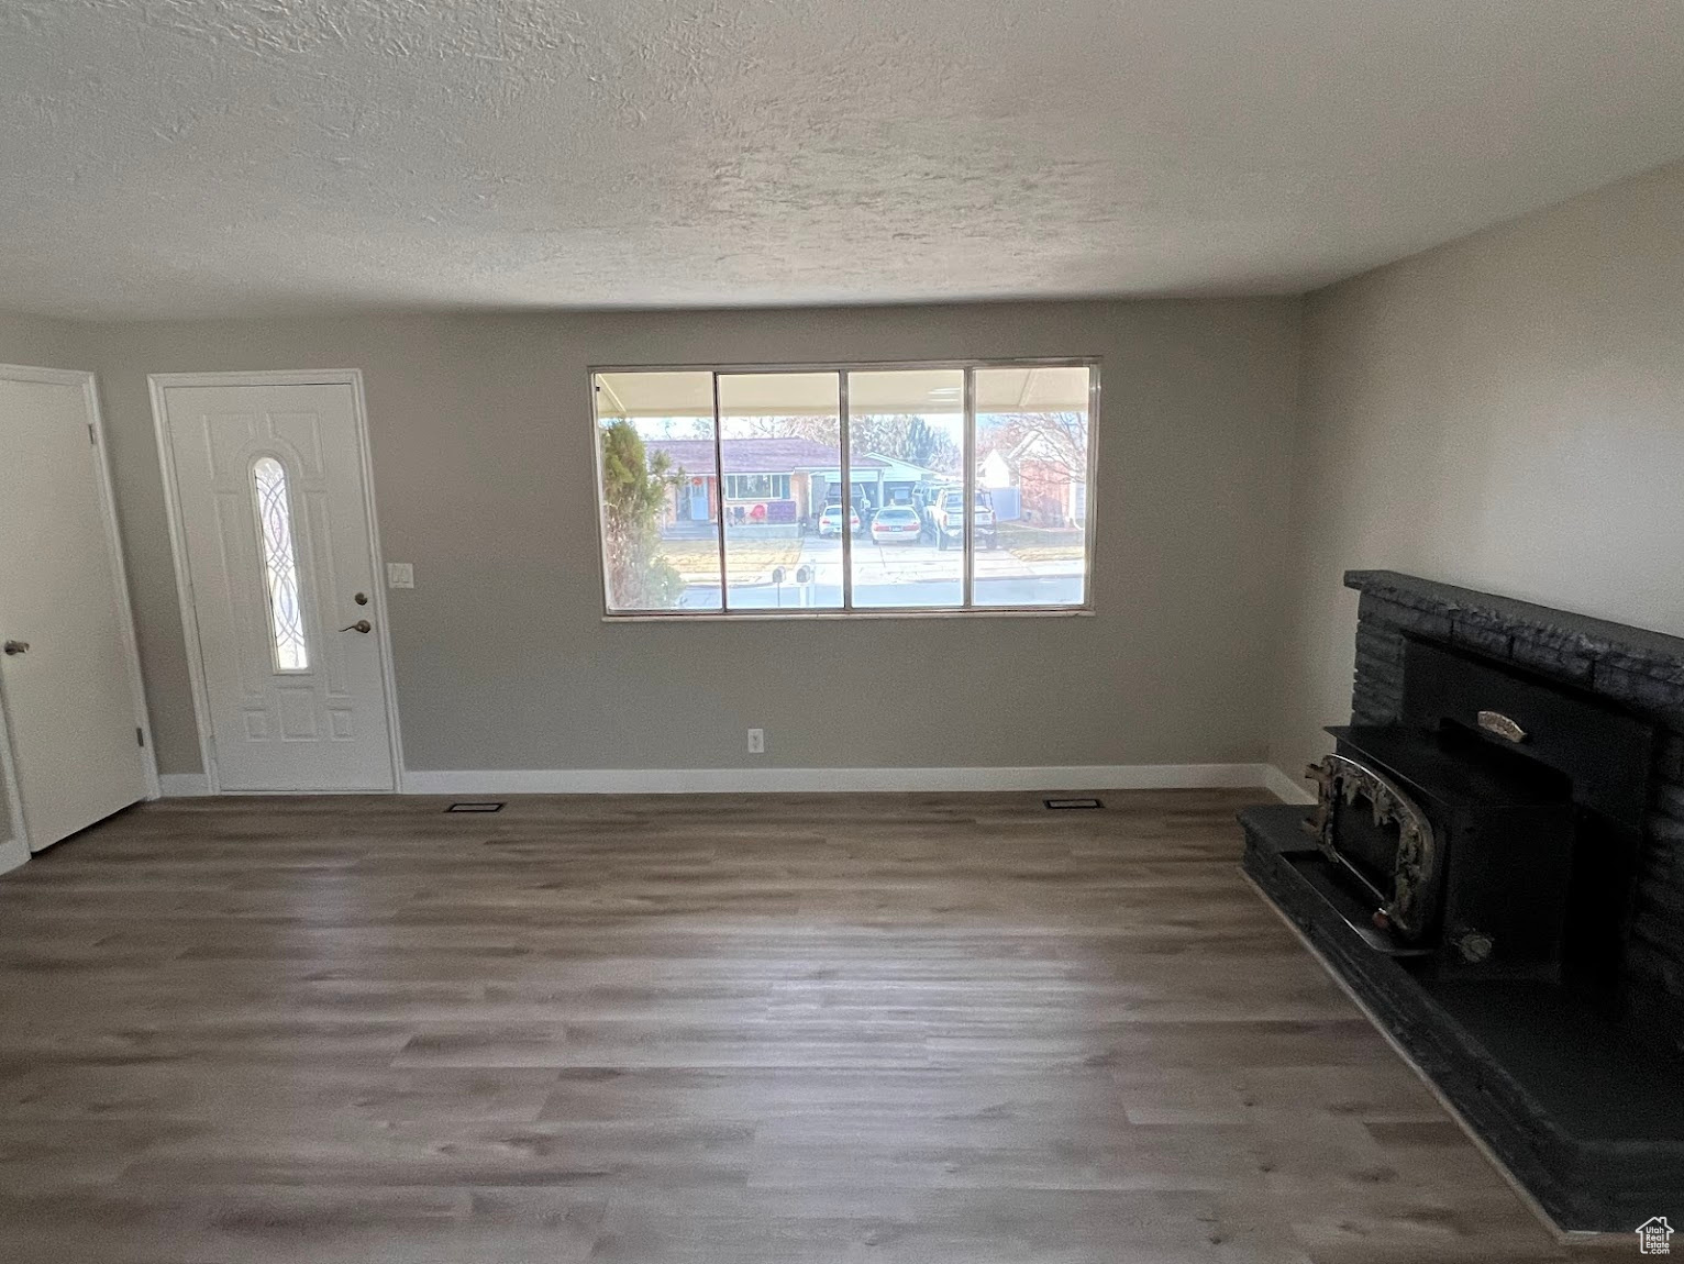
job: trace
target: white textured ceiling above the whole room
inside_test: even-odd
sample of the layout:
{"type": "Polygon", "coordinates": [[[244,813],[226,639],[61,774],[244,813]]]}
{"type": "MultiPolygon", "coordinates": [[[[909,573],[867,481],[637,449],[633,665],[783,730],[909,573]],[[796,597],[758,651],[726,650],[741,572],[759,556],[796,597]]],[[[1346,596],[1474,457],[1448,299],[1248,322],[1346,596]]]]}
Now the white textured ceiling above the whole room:
{"type": "Polygon", "coordinates": [[[1684,0],[0,0],[0,308],[1295,291],[1684,155],[1684,0]]]}

